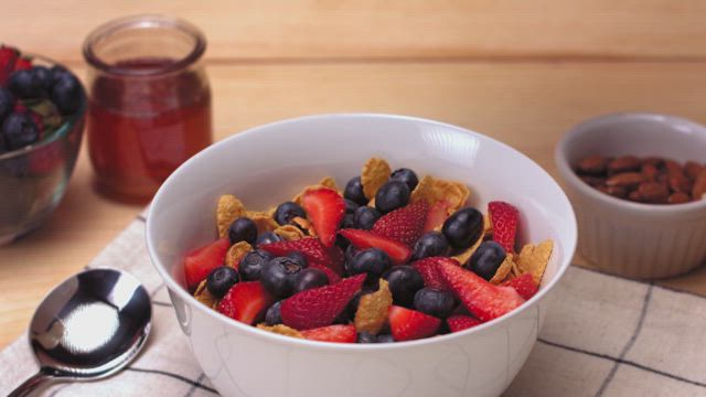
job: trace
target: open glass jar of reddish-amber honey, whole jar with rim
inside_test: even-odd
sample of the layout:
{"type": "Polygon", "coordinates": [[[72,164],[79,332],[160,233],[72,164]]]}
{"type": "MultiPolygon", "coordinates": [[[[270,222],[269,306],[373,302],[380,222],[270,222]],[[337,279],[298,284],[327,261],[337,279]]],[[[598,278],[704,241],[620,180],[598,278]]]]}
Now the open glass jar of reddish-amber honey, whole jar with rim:
{"type": "Polygon", "coordinates": [[[88,35],[86,129],[99,192],[149,201],[212,142],[205,47],[195,26],[159,15],[111,21],[88,35]]]}

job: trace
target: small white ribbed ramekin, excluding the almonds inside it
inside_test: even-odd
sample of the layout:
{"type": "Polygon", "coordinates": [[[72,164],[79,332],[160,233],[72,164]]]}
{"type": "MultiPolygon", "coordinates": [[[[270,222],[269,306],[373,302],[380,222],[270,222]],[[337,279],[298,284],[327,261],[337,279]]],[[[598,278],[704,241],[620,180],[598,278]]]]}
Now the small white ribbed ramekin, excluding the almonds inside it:
{"type": "Polygon", "coordinates": [[[633,203],[584,183],[571,167],[590,154],[660,155],[704,161],[706,128],[677,117],[620,114],[569,130],[555,158],[579,227],[579,254],[596,267],[631,278],[684,273],[706,258],[706,201],[674,205],[633,203]]]}

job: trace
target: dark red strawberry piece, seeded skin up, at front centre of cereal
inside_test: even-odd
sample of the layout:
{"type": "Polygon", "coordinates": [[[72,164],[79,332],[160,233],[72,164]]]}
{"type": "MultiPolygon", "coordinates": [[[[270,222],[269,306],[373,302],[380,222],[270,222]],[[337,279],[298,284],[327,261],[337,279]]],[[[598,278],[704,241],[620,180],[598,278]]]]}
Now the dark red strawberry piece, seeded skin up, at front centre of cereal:
{"type": "Polygon", "coordinates": [[[345,310],[366,275],[349,277],[334,285],[295,293],[282,302],[282,323],[297,330],[327,326],[345,310]]]}

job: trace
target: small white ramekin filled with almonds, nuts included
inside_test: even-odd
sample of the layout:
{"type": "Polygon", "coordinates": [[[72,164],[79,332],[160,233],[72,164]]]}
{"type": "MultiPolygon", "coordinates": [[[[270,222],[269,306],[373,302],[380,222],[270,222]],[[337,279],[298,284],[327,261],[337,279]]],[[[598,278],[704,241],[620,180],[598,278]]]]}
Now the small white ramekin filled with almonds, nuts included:
{"type": "Polygon", "coordinates": [[[706,258],[706,128],[656,114],[597,117],[566,132],[555,158],[576,208],[579,254],[653,279],[706,258]]]}

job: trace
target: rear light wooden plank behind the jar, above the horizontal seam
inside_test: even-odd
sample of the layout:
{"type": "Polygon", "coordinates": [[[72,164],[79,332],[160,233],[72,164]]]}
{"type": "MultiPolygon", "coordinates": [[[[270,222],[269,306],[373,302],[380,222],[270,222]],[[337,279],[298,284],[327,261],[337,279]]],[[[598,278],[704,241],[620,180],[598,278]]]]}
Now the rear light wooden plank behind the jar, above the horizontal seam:
{"type": "Polygon", "coordinates": [[[192,21],[213,60],[706,56],[699,0],[6,1],[0,40],[77,61],[92,29],[137,13],[192,21]]]}

